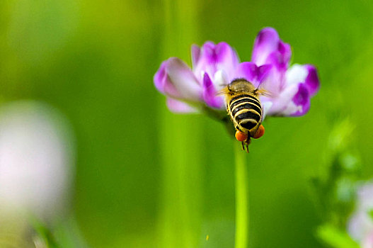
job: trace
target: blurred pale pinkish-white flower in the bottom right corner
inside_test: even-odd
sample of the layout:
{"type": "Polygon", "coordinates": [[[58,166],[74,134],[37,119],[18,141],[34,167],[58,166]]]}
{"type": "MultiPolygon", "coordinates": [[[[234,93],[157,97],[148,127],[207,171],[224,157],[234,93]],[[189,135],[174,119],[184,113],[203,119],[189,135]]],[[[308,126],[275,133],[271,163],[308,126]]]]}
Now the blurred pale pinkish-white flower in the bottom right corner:
{"type": "Polygon", "coordinates": [[[373,182],[357,190],[357,206],[348,221],[348,233],[361,247],[373,247],[373,182]]]}

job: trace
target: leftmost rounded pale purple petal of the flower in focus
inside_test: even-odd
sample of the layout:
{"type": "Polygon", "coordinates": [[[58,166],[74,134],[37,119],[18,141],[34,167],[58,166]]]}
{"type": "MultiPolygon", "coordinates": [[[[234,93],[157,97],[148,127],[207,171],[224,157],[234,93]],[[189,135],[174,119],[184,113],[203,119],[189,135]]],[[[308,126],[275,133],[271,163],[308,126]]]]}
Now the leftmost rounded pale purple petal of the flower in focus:
{"type": "Polygon", "coordinates": [[[154,75],[154,84],[161,93],[173,98],[200,101],[202,86],[182,60],[171,57],[161,64],[154,75]]]}

